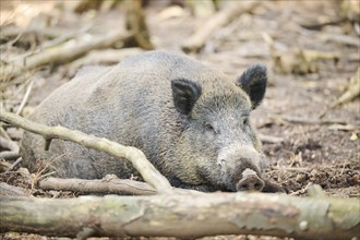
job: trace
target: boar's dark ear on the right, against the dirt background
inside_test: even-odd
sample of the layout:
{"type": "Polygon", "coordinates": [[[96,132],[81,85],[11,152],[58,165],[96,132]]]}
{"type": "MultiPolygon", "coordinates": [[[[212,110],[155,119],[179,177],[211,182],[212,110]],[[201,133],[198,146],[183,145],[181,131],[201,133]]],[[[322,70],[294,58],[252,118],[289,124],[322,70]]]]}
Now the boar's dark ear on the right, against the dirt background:
{"type": "Polygon", "coordinates": [[[250,97],[252,109],[255,109],[264,98],[266,91],[266,68],[264,65],[253,65],[249,68],[237,81],[250,97]]]}

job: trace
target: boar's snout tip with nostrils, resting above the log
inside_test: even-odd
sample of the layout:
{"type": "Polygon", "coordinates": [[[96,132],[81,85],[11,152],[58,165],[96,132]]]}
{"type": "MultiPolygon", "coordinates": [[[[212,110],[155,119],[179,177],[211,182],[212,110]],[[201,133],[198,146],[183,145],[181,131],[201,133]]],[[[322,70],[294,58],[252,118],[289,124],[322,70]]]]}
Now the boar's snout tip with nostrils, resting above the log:
{"type": "Polygon", "coordinates": [[[242,178],[237,183],[237,191],[262,191],[264,189],[265,182],[259,178],[257,173],[247,168],[242,172],[242,178]]]}

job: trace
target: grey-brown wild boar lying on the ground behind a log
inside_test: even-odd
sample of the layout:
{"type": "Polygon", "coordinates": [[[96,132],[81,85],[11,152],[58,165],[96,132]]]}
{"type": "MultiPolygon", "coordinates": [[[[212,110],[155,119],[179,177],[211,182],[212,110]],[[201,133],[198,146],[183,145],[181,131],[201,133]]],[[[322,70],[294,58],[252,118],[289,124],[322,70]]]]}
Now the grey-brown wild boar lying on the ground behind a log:
{"type": "MultiPolygon", "coordinates": [[[[115,67],[81,71],[39,105],[32,120],[135,146],[173,187],[200,191],[266,189],[266,166],[250,115],[266,89],[266,68],[237,79],[184,55],[149,51],[115,67]]],[[[21,154],[35,171],[51,161],[58,177],[139,173],[125,159],[25,133],[21,154]]]]}

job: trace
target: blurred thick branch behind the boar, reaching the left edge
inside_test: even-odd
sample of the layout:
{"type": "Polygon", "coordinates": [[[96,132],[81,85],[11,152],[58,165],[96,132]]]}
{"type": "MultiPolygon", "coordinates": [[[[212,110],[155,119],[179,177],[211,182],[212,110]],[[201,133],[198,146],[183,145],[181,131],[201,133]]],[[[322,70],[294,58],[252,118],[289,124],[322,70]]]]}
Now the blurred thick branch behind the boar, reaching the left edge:
{"type": "Polygon", "coordinates": [[[0,65],[0,82],[7,82],[19,76],[24,71],[50,62],[57,63],[73,60],[89,50],[110,47],[117,41],[124,40],[130,36],[132,36],[132,34],[124,33],[124,31],[110,32],[108,35],[92,37],[91,39],[86,36],[79,40],[70,40],[57,47],[46,49],[45,51],[16,59],[8,62],[8,64],[0,65]]]}

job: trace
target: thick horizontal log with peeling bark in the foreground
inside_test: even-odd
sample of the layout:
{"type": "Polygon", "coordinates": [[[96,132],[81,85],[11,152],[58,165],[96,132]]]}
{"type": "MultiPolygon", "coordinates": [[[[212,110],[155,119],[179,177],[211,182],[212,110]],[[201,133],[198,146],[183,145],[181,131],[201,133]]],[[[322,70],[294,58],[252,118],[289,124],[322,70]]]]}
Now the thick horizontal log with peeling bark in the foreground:
{"type": "Polygon", "coordinates": [[[178,237],[262,235],[359,237],[358,200],[265,193],[36,199],[0,196],[0,231],[46,236],[178,237]]]}

